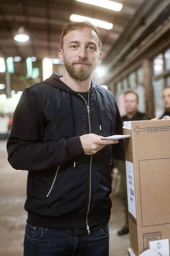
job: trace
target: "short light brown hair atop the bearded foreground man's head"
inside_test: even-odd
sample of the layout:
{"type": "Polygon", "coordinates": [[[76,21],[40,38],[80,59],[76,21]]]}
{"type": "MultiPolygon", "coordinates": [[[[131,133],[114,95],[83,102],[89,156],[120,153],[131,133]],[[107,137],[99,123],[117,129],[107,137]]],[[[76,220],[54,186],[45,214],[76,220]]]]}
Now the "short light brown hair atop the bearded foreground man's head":
{"type": "Polygon", "coordinates": [[[72,30],[77,30],[77,29],[81,30],[83,28],[91,28],[92,30],[94,30],[94,32],[96,32],[98,39],[99,39],[99,50],[101,51],[102,50],[102,39],[101,39],[100,33],[98,31],[98,28],[88,21],[69,22],[68,24],[66,24],[64,26],[64,28],[62,29],[62,33],[61,33],[61,37],[60,37],[60,48],[61,49],[63,48],[63,44],[64,44],[63,38],[65,35],[68,34],[68,32],[70,32],[72,30]]]}

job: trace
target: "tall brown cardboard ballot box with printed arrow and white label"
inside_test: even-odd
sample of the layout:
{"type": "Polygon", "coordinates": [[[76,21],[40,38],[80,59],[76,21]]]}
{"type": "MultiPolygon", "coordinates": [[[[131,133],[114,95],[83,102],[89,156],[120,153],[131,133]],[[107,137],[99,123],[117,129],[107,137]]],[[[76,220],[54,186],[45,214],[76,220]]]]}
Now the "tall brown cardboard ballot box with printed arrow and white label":
{"type": "Polygon", "coordinates": [[[130,245],[170,241],[170,120],[124,122],[130,245]]]}

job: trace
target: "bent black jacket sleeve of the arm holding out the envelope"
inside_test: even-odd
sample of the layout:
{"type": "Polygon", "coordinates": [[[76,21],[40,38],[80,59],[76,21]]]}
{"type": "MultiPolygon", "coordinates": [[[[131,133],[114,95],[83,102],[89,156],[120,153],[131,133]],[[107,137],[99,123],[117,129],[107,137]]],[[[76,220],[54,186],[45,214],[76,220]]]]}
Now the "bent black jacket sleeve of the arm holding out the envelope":
{"type": "Polygon", "coordinates": [[[79,136],[43,143],[46,122],[41,106],[38,93],[25,89],[7,141],[8,161],[15,169],[53,169],[84,153],[79,136]]]}

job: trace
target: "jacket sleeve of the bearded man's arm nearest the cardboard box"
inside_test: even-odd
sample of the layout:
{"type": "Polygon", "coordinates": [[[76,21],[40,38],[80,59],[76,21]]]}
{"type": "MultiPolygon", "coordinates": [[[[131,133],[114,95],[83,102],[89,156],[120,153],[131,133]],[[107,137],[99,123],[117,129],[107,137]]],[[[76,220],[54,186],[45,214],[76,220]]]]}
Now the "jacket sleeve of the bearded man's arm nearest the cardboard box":
{"type": "MultiPolygon", "coordinates": [[[[121,119],[121,115],[119,113],[119,108],[117,106],[116,101],[115,107],[117,111],[115,135],[123,135],[123,121],[121,119]]],[[[113,159],[125,160],[123,139],[119,139],[119,143],[113,144],[112,157],[113,159]]]]}

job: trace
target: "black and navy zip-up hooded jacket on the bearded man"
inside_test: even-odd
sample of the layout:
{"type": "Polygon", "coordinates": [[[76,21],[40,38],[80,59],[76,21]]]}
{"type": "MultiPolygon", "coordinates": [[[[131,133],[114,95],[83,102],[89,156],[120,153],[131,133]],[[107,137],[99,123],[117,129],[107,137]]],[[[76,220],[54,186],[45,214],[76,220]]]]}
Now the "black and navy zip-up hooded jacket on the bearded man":
{"type": "Polygon", "coordinates": [[[28,170],[28,223],[90,228],[110,218],[110,161],[124,159],[123,141],[89,156],[80,136],[122,134],[122,121],[110,91],[92,82],[86,102],[59,77],[53,73],[23,91],[7,142],[8,161],[28,170]]]}

